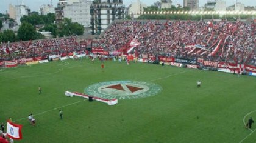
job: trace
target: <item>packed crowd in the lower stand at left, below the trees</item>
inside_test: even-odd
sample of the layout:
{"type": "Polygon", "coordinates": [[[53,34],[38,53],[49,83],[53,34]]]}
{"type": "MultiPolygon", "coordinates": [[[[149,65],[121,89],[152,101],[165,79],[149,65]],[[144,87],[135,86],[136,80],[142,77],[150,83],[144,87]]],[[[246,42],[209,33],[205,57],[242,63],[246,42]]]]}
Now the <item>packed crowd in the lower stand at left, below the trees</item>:
{"type": "Polygon", "coordinates": [[[0,44],[0,61],[62,55],[63,53],[80,50],[81,46],[75,38],[2,43],[0,44]]]}

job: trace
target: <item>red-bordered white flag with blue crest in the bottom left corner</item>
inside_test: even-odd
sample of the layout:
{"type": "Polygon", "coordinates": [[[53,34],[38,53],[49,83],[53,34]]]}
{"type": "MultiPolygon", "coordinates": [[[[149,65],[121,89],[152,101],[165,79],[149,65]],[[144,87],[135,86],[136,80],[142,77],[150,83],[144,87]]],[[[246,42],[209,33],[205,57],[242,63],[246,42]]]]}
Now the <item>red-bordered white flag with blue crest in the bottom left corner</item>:
{"type": "Polygon", "coordinates": [[[22,125],[14,124],[13,122],[7,121],[7,136],[12,139],[22,139],[21,128],[22,125]]]}

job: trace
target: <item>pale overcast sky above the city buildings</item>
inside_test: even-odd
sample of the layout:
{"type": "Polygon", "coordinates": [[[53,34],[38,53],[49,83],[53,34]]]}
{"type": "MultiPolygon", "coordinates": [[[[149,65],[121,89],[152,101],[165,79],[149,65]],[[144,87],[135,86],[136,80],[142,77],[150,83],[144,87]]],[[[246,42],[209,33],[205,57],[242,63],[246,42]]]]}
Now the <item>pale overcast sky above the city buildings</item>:
{"type": "MultiPolygon", "coordinates": [[[[39,7],[43,4],[50,4],[51,0],[0,0],[0,13],[5,13],[6,10],[9,10],[9,4],[17,5],[21,4],[21,1],[25,5],[27,5],[32,11],[38,11],[39,7]]],[[[52,0],[54,6],[57,6],[57,2],[59,0],[52,0]]],[[[137,0],[123,0],[124,4],[128,6],[132,2],[135,2],[137,0]]],[[[152,5],[157,0],[140,0],[144,4],[147,4],[148,6],[152,5]]],[[[160,0],[159,0],[160,1],[160,0]]],[[[174,4],[181,4],[183,6],[183,0],[172,0],[174,4]]],[[[235,4],[236,0],[226,0],[227,6],[235,4]]],[[[237,0],[238,2],[241,2],[245,4],[246,6],[256,6],[256,0],[237,0]]],[[[204,5],[207,2],[207,0],[199,0],[199,6],[204,5]]]]}

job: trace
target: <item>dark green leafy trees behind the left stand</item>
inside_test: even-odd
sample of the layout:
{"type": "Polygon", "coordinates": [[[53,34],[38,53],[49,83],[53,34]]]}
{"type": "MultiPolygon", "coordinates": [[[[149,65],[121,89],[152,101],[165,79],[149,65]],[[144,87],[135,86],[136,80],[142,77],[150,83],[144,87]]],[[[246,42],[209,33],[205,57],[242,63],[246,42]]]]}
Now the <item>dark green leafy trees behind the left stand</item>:
{"type": "MultiPolygon", "coordinates": [[[[12,21],[12,19],[10,19],[12,21]]],[[[24,15],[21,19],[21,25],[18,28],[18,33],[15,35],[13,30],[4,30],[0,32],[0,42],[15,42],[15,41],[28,41],[35,39],[44,39],[41,33],[38,33],[36,28],[40,28],[39,31],[49,31],[53,37],[63,37],[71,35],[83,35],[83,25],[72,22],[71,19],[64,18],[63,22],[59,25],[55,24],[55,14],[49,13],[48,15],[38,15],[32,13],[31,15],[24,15]]],[[[0,20],[0,29],[2,28],[2,21],[0,20]]]]}

